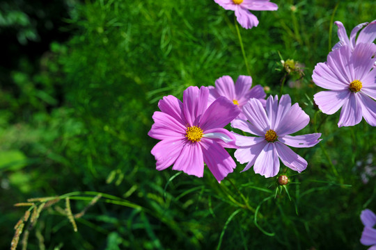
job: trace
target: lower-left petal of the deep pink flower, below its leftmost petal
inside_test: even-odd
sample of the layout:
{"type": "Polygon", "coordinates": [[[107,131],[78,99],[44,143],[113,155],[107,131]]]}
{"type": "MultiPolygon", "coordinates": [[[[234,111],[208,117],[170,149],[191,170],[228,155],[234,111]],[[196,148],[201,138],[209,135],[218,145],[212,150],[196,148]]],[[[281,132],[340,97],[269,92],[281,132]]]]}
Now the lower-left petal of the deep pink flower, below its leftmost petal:
{"type": "Polygon", "coordinates": [[[155,144],[151,153],[157,160],[157,170],[160,171],[173,165],[180,156],[184,144],[184,139],[162,140],[155,144]]]}

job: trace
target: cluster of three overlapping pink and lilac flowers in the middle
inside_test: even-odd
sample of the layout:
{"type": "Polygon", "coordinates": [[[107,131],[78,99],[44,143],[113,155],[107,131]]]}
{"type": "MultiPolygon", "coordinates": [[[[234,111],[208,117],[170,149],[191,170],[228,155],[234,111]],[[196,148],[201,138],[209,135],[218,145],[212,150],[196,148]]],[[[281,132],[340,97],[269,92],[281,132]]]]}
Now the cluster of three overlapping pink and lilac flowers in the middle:
{"type": "Polygon", "coordinates": [[[291,105],[288,95],[281,101],[272,96],[265,101],[263,88],[251,88],[251,81],[251,76],[239,76],[234,85],[230,76],[223,76],[215,88],[187,88],[183,102],[173,96],[160,100],[161,112],[154,113],[155,124],[148,133],[161,140],[151,151],[157,169],[173,165],[175,170],[202,177],[206,163],[220,182],[236,167],[224,147],[237,149],[237,161],[248,163],[243,171],[254,165],[254,171],[265,177],[278,174],[279,159],[297,172],[306,169],[306,160],[286,145],[313,147],[321,134],[289,135],[308,124],[308,115],[297,103],[291,105]],[[230,122],[256,137],[230,133],[223,128],[230,122]]]}

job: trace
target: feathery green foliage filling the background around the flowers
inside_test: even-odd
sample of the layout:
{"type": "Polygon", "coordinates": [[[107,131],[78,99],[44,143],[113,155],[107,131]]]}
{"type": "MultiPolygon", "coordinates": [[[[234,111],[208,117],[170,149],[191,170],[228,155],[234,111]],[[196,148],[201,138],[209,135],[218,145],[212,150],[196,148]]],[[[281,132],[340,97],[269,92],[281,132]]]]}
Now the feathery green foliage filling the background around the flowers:
{"type": "Polygon", "coordinates": [[[338,128],[338,114],[320,113],[311,74],[338,41],[332,21],[350,32],[375,19],[374,1],[275,0],[279,10],[253,12],[258,27],[240,27],[253,84],[290,94],[311,117],[301,133],[322,133],[295,150],[308,161],[302,174],[281,167],[285,188],[242,165],[221,184],[208,169],[157,172],[150,154],[159,99],[247,74],[233,12],[214,1],[65,2],[70,40],[52,42],[39,67],[20,58],[13,87],[0,90],[1,249],[25,213],[14,203],[56,196],[27,249],[364,249],[359,215],[375,210],[376,182],[361,173],[368,158],[375,165],[375,129],[338,128]],[[280,56],[304,75],[285,72],[280,56]],[[64,199],[70,217],[84,211],[77,233],[64,199]]]}

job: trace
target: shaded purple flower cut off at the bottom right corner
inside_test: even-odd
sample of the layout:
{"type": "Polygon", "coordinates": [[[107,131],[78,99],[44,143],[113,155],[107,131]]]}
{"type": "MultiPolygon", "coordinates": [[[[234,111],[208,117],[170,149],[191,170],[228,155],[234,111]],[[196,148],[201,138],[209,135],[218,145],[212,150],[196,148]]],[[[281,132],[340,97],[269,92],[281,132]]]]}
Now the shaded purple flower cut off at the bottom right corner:
{"type": "Polygon", "coordinates": [[[376,215],[371,210],[361,211],[361,222],[364,225],[363,233],[361,233],[361,244],[371,246],[368,250],[376,250],[376,215]]]}

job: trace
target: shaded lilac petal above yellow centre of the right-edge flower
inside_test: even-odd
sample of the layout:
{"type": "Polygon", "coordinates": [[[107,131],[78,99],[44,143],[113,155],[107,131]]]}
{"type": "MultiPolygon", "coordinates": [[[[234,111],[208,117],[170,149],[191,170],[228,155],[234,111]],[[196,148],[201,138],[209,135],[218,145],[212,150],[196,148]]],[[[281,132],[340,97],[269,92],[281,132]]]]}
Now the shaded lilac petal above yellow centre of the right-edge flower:
{"type": "MultiPolygon", "coordinates": [[[[354,67],[353,80],[360,80],[369,74],[375,63],[373,56],[376,53],[376,44],[357,44],[352,52],[350,61],[354,67]]],[[[351,82],[351,81],[350,81],[351,82]]]]}

